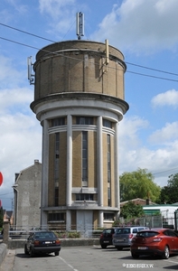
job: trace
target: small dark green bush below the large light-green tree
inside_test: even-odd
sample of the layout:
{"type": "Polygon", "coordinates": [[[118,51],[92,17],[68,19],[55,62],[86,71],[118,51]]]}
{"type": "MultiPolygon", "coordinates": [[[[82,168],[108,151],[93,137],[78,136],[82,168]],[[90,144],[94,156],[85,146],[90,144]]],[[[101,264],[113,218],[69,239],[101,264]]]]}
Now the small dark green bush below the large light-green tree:
{"type": "Polygon", "coordinates": [[[139,204],[135,204],[132,201],[128,201],[120,211],[120,216],[124,219],[139,218],[144,215],[143,207],[139,204]]]}

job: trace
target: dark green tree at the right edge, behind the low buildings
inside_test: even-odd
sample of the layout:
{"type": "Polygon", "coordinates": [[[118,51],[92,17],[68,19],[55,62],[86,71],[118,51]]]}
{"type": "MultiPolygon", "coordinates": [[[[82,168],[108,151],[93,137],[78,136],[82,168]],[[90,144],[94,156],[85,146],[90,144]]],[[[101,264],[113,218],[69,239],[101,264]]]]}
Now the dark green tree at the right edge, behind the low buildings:
{"type": "Polygon", "coordinates": [[[178,173],[172,174],[167,181],[167,186],[161,189],[160,203],[175,203],[178,202],[178,173]]]}

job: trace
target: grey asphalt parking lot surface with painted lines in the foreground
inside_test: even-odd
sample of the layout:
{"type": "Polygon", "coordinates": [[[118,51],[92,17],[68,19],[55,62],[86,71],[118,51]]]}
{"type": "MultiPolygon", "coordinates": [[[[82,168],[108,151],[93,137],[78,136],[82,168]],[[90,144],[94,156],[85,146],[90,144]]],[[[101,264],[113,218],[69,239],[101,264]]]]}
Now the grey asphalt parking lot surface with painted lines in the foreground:
{"type": "Polygon", "coordinates": [[[168,260],[155,257],[133,259],[129,249],[94,247],[61,248],[58,257],[25,256],[23,249],[9,250],[0,271],[126,271],[126,270],[177,270],[178,256],[168,260]]]}

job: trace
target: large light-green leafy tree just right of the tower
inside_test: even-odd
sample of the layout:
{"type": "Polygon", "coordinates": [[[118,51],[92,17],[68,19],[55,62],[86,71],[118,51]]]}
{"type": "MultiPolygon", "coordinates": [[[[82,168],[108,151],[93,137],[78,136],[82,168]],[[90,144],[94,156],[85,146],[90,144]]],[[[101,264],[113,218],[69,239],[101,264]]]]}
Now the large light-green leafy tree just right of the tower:
{"type": "Polygon", "coordinates": [[[132,173],[123,173],[120,176],[120,201],[130,201],[136,198],[159,201],[161,188],[155,184],[154,176],[146,169],[132,173]]]}

